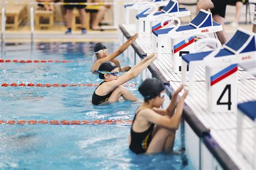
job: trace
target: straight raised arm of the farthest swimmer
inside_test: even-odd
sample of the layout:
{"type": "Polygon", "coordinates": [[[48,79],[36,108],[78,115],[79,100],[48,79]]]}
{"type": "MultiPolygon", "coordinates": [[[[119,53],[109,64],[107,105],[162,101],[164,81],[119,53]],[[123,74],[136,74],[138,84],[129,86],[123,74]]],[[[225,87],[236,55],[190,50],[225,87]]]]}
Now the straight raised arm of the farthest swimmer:
{"type": "MultiPolygon", "coordinates": [[[[134,34],[132,37],[130,37],[122,46],[120,46],[116,51],[114,51],[112,54],[108,55],[105,59],[105,61],[111,61],[114,58],[116,58],[119,54],[123,53],[125,49],[127,49],[132,42],[134,42],[138,37],[138,33],[134,34]]],[[[103,61],[103,62],[105,62],[103,61]]]]}

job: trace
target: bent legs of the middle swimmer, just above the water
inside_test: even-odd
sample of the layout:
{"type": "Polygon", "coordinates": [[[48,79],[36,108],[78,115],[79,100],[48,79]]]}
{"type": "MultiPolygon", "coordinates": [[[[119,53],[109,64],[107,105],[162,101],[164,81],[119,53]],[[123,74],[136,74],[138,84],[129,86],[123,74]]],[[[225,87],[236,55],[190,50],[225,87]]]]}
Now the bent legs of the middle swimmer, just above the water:
{"type": "Polygon", "coordinates": [[[114,91],[112,92],[112,94],[109,97],[109,100],[107,100],[108,102],[117,102],[120,98],[120,96],[122,96],[125,100],[128,101],[137,101],[137,97],[135,97],[133,94],[130,93],[130,91],[128,91],[127,89],[123,88],[122,86],[117,87],[116,89],[114,89],[114,91]]]}

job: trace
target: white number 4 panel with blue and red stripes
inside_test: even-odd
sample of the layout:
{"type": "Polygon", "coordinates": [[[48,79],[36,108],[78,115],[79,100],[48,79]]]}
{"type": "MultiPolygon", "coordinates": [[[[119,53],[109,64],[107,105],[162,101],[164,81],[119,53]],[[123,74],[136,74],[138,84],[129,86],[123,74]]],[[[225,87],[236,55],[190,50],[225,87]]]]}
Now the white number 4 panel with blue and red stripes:
{"type": "Polygon", "coordinates": [[[206,67],[208,108],[213,112],[237,108],[238,65],[206,67]]]}

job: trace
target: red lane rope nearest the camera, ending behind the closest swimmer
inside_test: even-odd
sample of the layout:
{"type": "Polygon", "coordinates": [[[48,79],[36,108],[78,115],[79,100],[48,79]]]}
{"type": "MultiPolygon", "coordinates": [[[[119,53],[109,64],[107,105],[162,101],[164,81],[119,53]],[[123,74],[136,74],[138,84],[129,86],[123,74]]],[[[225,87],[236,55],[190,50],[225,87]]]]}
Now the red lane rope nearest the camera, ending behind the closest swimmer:
{"type": "Polygon", "coordinates": [[[18,124],[18,125],[36,125],[36,124],[49,124],[49,125],[105,125],[105,124],[131,124],[132,121],[122,121],[122,120],[95,120],[95,121],[57,121],[57,120],[52,120],[52,121],[36,121],[36,120],[30,120],[30,121],[25,121],[25,120],[9,120],[9,121],[1,121],[0,124],[18,124]]]}

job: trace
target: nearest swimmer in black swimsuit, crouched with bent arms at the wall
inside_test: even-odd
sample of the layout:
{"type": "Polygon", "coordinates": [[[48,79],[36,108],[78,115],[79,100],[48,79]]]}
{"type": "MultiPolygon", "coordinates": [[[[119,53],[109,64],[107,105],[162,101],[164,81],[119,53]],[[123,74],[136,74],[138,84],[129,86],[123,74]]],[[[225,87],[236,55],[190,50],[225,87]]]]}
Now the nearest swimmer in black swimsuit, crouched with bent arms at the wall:
{"type": "Polygon", "coordinates": [[[164,110],[159,109],[165,96],[164,86],[160,81],[146,79],[139,86],[144,103],[137,109],[132,122],[129,138],[132,152],[139,154],[172,151],[175,131],[179,128],[184,100],[188,93],[185,90],[177,103],[177,96],[183,88],[184,85],[181,85],[174,92],[169,107],[164,110]]]}

